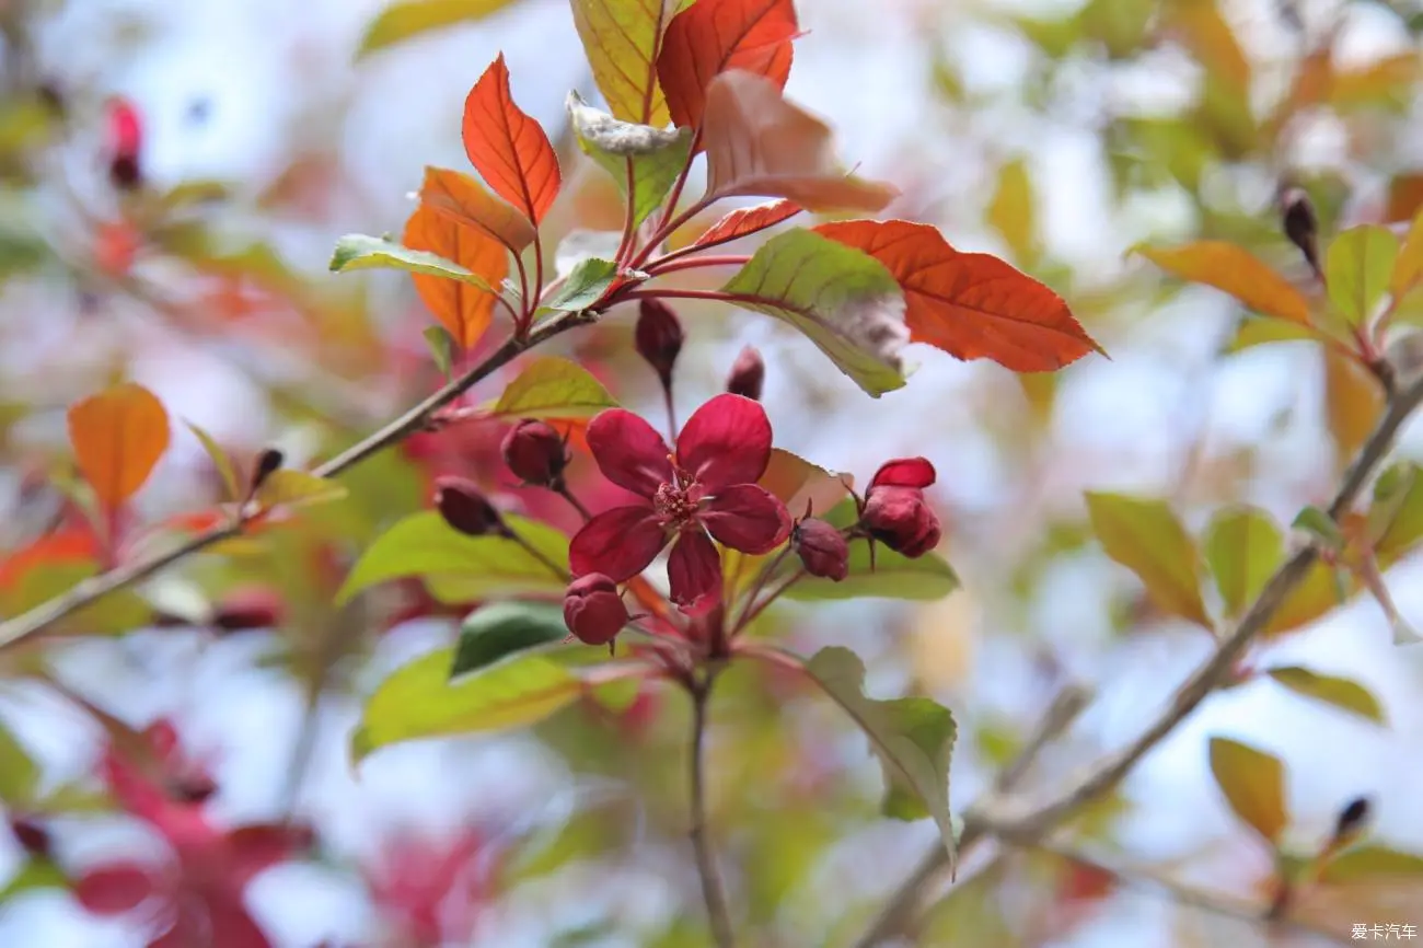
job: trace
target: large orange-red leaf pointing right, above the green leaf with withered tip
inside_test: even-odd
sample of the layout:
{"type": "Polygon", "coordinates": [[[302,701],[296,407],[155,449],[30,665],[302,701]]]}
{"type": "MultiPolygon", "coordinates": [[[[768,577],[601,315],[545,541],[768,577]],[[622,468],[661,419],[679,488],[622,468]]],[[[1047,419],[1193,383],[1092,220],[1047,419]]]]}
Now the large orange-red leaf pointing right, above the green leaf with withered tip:
{"type": "Polygon", "coordinates": [[[844,221],[814,229],[889,268],[914,342],[1013,372],[1053,372],[1101,352],[1057,293],[996,256],[959,253],[935,228],[844,221]]]}

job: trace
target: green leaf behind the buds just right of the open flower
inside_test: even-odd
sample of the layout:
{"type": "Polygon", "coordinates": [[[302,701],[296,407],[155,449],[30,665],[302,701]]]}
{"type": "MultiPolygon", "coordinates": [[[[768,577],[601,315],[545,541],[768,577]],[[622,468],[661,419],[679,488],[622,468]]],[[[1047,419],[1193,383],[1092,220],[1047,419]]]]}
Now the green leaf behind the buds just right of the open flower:
{"type": "MultiPolygon", "coordinates": [[[[848,527],[855,521],[855,501],[845,500],[824,514],[824,520],[835,527],[848,527]]],[[[787,558],[777,569],[777,576],[788,576],[800,567],[800,561],[787,558]]],[[[874,568],[869,564],[869,542],[850,542],[850,574],[840,582],[805,576],[790,586],[784,598],[798,602],[832,602],[837,599],[915,599],[928,602],[942,599],[959,588],[959,576],[953,567],[936,552],[909,559],[884,544],[875,544],[874,568]]]]}

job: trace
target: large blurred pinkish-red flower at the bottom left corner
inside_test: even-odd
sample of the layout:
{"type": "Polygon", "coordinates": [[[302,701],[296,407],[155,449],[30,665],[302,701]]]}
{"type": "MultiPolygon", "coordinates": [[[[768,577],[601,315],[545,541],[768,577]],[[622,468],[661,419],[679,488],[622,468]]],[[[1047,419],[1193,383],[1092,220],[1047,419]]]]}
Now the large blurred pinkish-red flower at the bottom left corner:
{"type": "MultiPolygon", "coordinates": [[[[159,722],[145,737],[159,770],[169,776],[188,770],[178,757],[171,725],[159,722]]],[[[97,915],[145,907],[144,915],[154,924],[149,948],[269,948],[248,914],[243,891],[258,873],[305,848],[309,834],[276,824],[221,830],[201,803],[172,799],[112,747],[100,771],[120,806],[162,834],[174,860],[157,865],[120,860],[90,868],[74,881],[80,904],[97,915]]]]}

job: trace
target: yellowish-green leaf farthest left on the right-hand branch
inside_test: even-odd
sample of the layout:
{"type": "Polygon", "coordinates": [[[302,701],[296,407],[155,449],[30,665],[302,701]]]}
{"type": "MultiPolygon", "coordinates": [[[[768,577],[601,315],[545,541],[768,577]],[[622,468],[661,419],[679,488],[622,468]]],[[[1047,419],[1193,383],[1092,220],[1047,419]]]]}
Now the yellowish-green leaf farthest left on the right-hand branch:
{"type": "Polygon", "coordinates": [[[1107,555],[1137,574],[1158,609],[1207,629],[1201,561],[1191,535],[1160,500],[1089,491],[1087,515],[1107,555]]]}

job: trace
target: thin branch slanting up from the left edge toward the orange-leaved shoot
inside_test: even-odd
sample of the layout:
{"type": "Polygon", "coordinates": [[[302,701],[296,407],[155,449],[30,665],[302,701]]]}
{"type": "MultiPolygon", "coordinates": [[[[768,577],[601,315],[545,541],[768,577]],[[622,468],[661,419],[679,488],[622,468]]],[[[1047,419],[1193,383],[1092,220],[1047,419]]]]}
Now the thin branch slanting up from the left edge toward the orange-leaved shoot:
{"type": "MultiPolygon", "coordinates": [[[[428,399],[414,406],[403,416],[380,428],[374,434],[366,437],[364,440],[353,444],[342,454],[337,454],[332,460],[316,467],[312,474],[317,477],[336,477],[342,471],[360,464],[367,457],[383,451],[384,448],[403,441],[410,437],[434,416],[435,411],[445,407],[468,389],[474,387],[477,383],[482,381],[494,372],[502,369],[517,356],[524,353],[534,346],[548,342],[554,336],[562,332],[573,329],[576,326],[583,326],[596,319],[596,313],[592,310],[582,310],[576,313],[566,313],[565,316],[551,319],[538,329],[535,329],[525,340],[509,339],[507,343],[499,346],[495,352],[481,362],[478,366],[464,373],[450,384],[444,386],[428,399]]],[[[83,582],[74,585],[67,592],[41,602],[28,612],[18,615],[7,622],[0,623],[0,649],[13,648],[16,643],[28,639],[30,636],[43,632],[46,628],[54,625],[60,619],[83,609],[87,605],[107,596],[111,592],[124,589],[134,584],[148,579],[157,572],[161,572],[171,567],[172,564],[206,549],[223,539],[231,539],[242,532],[242,527],[238,525],[223,525],[215,527],[188,541],[179,544],[178,547],[149,557],[147,559],[139,559],[138,562],[128,564],[127,567],[120,567],[118,569],[110,569],[105,574],[84,579],[83,582]]]]}

